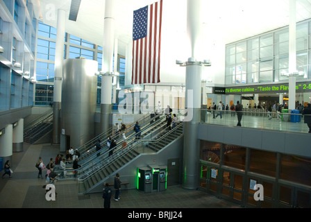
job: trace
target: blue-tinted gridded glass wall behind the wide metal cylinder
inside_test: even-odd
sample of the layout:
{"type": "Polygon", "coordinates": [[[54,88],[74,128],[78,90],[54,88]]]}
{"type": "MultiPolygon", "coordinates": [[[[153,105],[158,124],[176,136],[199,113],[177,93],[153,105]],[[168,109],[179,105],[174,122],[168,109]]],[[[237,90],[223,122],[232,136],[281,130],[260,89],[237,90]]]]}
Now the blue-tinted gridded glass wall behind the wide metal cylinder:
{"type": "MultiPolygon", "coordinates": [[[[53,102],[53,88],[51,83],[54,81],[54,61],[56,49],[56,28],[47,24],[38,24],[37,39],[37,62],[36,62],[36,80],[35,85],[35,105],[50,105],[53,102]],[[49,83],[47,83],[49,82],[49,83]],[[45,85],[45,87],[43,87],[45,85]],[[43,89],[44,88],[44,89],[43,89]],[[51,94],[47,94],[52,90],[51,94]]],[[[66,33],[64,59],[83,57],[89,60],[96,60],[99,64],[99,71],[102,68],[103,47],[97,46],[92,42],[81,39],[74,35],[66,33]]],[[[119,85],[124,87],[125,58],[118,55],[119,85]]],[[[97,87],[101,87],[101,77],[98,77],[97,87]]],[[[97,104],[101,103],[101,89],[97,90],[97,104]]]]}

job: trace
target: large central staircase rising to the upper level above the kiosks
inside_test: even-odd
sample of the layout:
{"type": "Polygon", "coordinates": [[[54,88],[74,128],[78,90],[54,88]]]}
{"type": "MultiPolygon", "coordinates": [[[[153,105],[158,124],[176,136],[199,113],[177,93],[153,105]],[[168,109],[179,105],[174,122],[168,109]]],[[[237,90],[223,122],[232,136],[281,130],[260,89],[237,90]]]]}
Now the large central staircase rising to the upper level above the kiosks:
{"type": "Polygon", "coordinates": [[[144,139],[135,139],[135,135],[132,135],[126,139],[128,142],[126,148],[119,144],[113,155],[108,156],[108,151],[106,151],[101,153],[101,158],[88,162],[87,166],[84,166],[78,173],[78,193],[87,194],[97,185],[102,185],[103,181],[115,175],[115,171],[139,158],[143,153],[140,151],[144,148],[151,149],[153,154],[158,153],[183,135],[183,123],[169,131],[166,129],[166,123],[162,121],[152,126],[144,131],[144,139]],[[160,131],[157,132],[159,129],[160,131]]]}

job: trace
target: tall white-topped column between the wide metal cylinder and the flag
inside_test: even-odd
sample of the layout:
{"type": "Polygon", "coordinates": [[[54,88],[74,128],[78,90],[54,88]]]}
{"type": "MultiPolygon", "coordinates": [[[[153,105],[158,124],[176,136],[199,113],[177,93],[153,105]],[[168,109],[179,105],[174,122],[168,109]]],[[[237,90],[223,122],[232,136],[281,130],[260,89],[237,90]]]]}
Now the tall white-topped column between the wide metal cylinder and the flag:
{"type": "Polygon", "coordinates": [[[115,3],[106,0],[103,22],[103,68],[101,78],[101,132],[109,128],[112,98],[113,42],[115,36],[115,3]]]}

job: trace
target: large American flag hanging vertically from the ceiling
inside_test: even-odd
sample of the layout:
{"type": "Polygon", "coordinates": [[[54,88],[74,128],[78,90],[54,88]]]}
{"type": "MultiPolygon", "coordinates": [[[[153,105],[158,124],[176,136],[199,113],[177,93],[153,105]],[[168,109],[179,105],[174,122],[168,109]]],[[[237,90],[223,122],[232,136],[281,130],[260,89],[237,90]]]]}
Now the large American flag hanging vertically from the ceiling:
{"type": "Polygon", "coordinates": [[[160,83],[162,0],[134,11],[132,84],[160,83]]]}

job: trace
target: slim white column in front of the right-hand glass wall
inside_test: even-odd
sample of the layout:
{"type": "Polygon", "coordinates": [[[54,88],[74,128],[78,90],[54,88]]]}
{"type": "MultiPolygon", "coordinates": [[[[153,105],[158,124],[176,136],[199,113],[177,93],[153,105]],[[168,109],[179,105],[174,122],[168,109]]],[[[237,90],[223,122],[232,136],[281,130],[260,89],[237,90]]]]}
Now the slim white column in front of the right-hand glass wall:
{"type": "Polygon", "coordinates": [[[289,0],[289,85],[288,109],[295,109],[296,101],[296,0],[289,0]]]}

